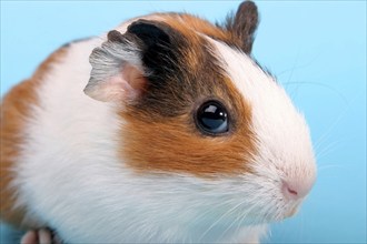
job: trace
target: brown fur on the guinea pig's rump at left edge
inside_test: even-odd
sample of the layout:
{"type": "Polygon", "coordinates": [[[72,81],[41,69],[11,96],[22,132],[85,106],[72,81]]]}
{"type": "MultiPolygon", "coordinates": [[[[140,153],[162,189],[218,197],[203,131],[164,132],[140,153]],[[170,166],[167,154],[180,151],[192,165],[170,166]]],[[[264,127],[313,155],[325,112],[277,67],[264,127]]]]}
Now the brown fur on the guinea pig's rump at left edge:
{"type": "Polygon", "coordinates": [[[31,120],[31,106],[38,104],[36,90],[51,65],[66,53],[60,49],[51,54],[36,71],[31,79],[14,87],[1,102],[0,116],[0,217],[17,227],[31,227],[23,222],[24,209],[14,209],[17,192],[10,187],[13,180],[13,166],[20,155],[21,144],[27,138],[24,125],[31,120]]]}

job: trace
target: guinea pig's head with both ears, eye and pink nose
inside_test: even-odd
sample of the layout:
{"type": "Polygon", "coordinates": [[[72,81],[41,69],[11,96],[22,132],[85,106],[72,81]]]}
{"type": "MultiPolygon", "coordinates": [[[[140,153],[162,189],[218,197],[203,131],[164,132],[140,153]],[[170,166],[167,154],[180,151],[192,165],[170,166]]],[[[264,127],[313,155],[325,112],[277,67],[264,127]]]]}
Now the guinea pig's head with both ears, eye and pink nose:
{"type": "Polygon", "coordinates": [[[250,55],[257,23],[252,2],[224,26],[176,13],[132,21],[93,50],[85,92],[118,104],[119,155],[136,177],[159,175],[159,194],[181,189],[182,209],[207,197],[206,209],[264,223],[296,212],[316,166],[304,116],[250,55]]]}

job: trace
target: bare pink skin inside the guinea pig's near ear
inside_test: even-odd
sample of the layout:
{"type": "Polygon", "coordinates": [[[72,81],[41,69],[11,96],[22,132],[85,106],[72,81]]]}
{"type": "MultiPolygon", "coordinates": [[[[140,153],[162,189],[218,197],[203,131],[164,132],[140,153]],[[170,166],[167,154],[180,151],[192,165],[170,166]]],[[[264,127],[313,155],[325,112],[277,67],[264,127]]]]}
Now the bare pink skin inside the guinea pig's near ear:
{"type": "Polygon", "coordinates": [[[147,79],[136,67],[127,64],[122,72],[102,82],[99,100],[135,102],[145,92],[147,79]]]}

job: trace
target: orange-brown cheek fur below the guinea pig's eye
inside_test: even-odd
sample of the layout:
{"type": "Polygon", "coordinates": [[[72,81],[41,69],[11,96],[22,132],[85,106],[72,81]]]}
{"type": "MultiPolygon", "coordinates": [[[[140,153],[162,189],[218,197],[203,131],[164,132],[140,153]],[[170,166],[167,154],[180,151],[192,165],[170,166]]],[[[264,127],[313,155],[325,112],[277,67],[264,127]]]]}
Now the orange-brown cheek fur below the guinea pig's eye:
{"type": "MultiPolygon", "coordinates": [[[[131,114],[131,113],[130,113],[131,114]]],[[[122,114],[122,162],[138,172],[175,172],[198,176],[242,174],[254,155],[252,136],[238,130],[226,136],[204,136],[187,115],[165,123],[148,123],[122,114]],[[244,136],[245,135],[245,136],[244,136]]]]}

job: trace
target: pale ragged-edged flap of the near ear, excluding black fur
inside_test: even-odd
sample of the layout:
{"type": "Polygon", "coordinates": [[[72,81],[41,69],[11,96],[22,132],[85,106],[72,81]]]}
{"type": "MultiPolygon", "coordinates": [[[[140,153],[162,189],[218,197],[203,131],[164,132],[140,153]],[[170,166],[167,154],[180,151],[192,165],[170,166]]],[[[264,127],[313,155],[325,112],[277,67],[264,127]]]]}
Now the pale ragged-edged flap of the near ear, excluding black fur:
{"type": "Polygon", "coordinates": [[[147,83],[139,47],[116,30],[107,38],[89,57],[92,70],[85,93],[103,102],[132,102],[147,83]]]}

